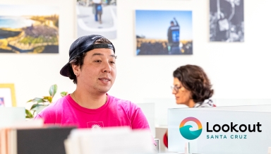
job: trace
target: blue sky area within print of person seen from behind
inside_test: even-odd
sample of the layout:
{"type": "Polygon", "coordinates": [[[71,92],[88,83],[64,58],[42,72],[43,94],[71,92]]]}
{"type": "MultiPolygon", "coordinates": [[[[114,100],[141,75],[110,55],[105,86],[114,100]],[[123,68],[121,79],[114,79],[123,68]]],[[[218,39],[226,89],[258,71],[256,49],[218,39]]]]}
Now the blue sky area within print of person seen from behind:
{"type": "Polygon", "coordinates": [[[192,11],[136,10],[135,35],[167,40],[167,29],[174,17],[180,25],[180,40],[192,40],[192,11]]]}

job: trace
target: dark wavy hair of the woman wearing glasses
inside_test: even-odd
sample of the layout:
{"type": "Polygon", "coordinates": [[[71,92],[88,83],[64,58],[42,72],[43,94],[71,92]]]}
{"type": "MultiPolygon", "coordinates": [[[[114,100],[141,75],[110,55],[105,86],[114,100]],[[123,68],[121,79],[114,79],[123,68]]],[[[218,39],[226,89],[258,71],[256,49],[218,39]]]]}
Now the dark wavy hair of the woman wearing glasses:
{"type": "Polygon", "coordinates": [[[181,81],[184,88],[191,91],[195,103],[203,102],[214,93],[209,78],[200,66],[180,66],[173,72],[173,76],[181,81]]]}

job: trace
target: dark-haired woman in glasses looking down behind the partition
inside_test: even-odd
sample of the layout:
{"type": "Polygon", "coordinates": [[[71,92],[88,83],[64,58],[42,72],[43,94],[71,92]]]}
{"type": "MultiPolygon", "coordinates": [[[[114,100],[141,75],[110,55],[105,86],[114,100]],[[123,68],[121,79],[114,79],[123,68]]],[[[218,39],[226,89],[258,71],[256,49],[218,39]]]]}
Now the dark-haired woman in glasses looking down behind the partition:
{"type": "MultiPolygon", "coordinates": [[[[215,107],[210,97],[214,93],[206,73],[200,66],[186,65],[173,72],[171,87],[178,105],[188,107],[215,107]]],[[[167,146],[167,132],[164,134],[164,146],[167,146]]]]}

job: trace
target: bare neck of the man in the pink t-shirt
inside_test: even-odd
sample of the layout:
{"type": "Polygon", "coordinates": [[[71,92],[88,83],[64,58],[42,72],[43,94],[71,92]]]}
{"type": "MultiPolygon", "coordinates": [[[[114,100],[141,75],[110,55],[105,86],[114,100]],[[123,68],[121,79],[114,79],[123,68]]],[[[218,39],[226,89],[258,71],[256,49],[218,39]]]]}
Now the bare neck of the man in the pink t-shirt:
{"type": "Polygon", "coordinates": [[[106,93],[90,93],[86,90],[79,90],[78,88],[71,93],[71,97],[78,105],[88,109],[100,108],[107,102],[106,93]]]}

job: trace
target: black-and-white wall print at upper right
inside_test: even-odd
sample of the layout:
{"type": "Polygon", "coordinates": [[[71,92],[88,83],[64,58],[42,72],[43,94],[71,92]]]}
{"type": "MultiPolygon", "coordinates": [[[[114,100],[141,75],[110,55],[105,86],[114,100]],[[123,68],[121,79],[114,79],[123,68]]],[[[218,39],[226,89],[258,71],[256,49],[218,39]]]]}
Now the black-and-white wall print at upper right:
{"type": "Polygon", "coordinates": [[[243,0],[210,0],[210,42],[243,41],[243,0]]]}

